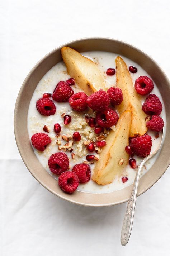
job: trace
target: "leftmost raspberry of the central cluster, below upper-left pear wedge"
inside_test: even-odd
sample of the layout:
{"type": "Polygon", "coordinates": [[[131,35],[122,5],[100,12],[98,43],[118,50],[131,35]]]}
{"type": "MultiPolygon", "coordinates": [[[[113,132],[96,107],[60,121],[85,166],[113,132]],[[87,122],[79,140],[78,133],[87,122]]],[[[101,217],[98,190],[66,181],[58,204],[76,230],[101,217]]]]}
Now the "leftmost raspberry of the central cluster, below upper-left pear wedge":
{"type": "Polygon", "coordinates": [[[88,108],[88,104],[86,103],[87,97],[88,96],[84,92],[77,92],[69,98],[69,104],[72,109],[76,111],[84,111],[88,108]]]}

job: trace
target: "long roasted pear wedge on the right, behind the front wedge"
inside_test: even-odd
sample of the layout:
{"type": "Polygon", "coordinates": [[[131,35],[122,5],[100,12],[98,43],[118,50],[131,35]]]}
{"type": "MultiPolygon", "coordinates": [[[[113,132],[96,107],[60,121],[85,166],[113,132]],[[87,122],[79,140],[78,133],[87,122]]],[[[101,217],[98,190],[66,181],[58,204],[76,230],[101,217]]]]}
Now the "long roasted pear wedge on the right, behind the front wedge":
{"type": "Polygon", "coordinates": [[[116,58],[116,77],[117,87],[123,92],[123,101],[116,109],[121,115],[126,110],[132,111],[132,125],[129,137],[144,135],[147,132],[146,114],[142,110],[141,98],[133,87],[131,75],[127,69],[126,63],[119,56],[116,58]]]}

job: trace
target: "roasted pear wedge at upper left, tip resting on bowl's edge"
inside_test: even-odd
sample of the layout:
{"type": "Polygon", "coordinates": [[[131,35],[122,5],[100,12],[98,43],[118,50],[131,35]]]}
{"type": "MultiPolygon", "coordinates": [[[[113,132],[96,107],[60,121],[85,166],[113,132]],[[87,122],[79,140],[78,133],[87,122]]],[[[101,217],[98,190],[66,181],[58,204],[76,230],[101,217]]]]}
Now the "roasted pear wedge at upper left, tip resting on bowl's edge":
{"type": "Polygon", "coordinates": [[[61,56],[67,72],[87,95],[104,88],[104,77],[93,61],[70,47],[63,47],[61,56]]]}

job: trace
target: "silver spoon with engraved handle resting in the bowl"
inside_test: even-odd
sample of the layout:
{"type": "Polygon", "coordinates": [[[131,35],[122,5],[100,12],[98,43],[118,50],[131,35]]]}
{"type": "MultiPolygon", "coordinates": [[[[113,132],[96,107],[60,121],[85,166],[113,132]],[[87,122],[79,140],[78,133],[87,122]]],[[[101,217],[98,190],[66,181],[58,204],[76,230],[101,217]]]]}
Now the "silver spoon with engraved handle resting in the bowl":
{"type": "Polygon", "coordinates": [[[124,221],[123,221],[123,226],[122,226],[122,231],[121,231],[122,246],[125,246],[128,243],[129,237],[131,235],[131,230],[132,230],[132,225],[133,225],[133,217],[134,217],[134,209],[135,209],[136,197],[137,197],[137,190],[138,190],[138,184],[139,184],[139,180],[140,180],[140,174],[141,174],[142,167],[148,159],[150,159],[152,156],[156,155],[157,152],[160,150],[162,141],[163,141],[163,137],[164,137],[164,129],[162,130],[162,139],[159,144],[159,147],[156,149],[156,151],[154,153],[143,158],[138,166],[137,173],[136,173],[134,183],[133,183],[132,193],[129,198],[129,202],[128,202],[127,209],[126,209],[126,215],[125,215],[124,221]]]}

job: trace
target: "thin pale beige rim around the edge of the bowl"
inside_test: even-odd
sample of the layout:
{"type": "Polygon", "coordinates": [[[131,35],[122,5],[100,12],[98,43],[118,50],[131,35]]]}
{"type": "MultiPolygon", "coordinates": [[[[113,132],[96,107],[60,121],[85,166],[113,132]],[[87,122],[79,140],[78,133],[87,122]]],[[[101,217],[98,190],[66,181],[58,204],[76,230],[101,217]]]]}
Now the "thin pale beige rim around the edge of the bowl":
{"type": "MultiPolygon", "coordinates": [[[[19,150],[19,153],[20,153],[20,156],[24,162],[24,164],[26,165],[28,171],[33,175],[34,178],[36,178],[36,180],[44,187],[46,188],[48,191],[50,191],[52,194],[54,195],[57,195],[59,198],[62,198],[68,202],[71,202],[71,203],[74,203],[74,204],[77,204],[77,205],[81,205],[81,206],[90,206],[90,207],[105,207],[105,206],[113,206],[113,205],[117,205],[117,204],[121,204],[121,203],[124,203],[124,202],[127,202],[128,199],[124,199],[124,200],[121,200],[119,202],[114,202],[114,203],[104,203],[104,204],[91,204],[91,203],[81,203],[81,202],[76,202],[75,200],[72,200],[70,198],[67,198],[65,195],[60,195],[60,194],[57,194],[57,193],[54,193],[54,191],[49,188],[46,184],[44,184],[44,182],[42,182],[41,180],[39,180],[36,175],[34,175],[34,173],[32,172],[31,169],[29,169],[28,167],[28,164],[25,163],[25,160],[24,160],[24,157],[23,157],[23,153],[22,153],[22,149],[20,148],[19,146],[19,138],[18,138],[18,132],[17,132],[17,127],[16,127],[16,124],[17,124],[17,111],[18,111],[18,106],[19,106],[19,99],[20,99],[20,96],[23,92],[23,89],[25,87],[25,84],[27,83],[28,79],[30,78],[30,76],[34,73],[34,71],[37,69],[37,67],[46,59],[48,58],[51,54],[55,53],[57,50],[61,49],[62,47],[65,47],[67,45],[70,45],[70,44],[73,44],[73,43],[79,43],[81,41],[87,41],[87,40],[109,40],[109,41],[114,41],[116,43],[122,43],[124,45],[126,45],[127,47],[130,47],[134,50],[136,50],[137,52],[140,52],[141,54],[143,54],[144,56],[146,56],[147,58],[149,58],[152,62],[155,63],[155,65],[159,68],[159,70],[162,72],[162,74],[164,75],[164,78],[166,79],[167,83],[169,84],[169,87],[170,87],[170,81],[167,77],[167,75],[165,74],[164,70],[162,70],[162,68],[160,67],[160,65],[148,54],[146,54],[145,52],[143,52],[141,49],[135,47],[134,45],[132,44],[129,44],[125,41],[122,41],[122,40],[119,40],[119,39],[113,39],[113,38],[110,38],[110,37],[83,37],[83,38],[80,38],[80,39],[76,39],[76,40],[72,40],[72,41],[69,41],[65,44],[62,44],[58,47],[56,47],[55,49],[51,50],[49,53],[47,53],[45,56],[43,56],[37,63],[36,65],[34,65],[32,67],[32,69],[29,71],[28,75],[26,76],[26,78],[24,79],[23,81],[23,84],[19,90],[19,93],[18,93],[18,96],[16,98],[16,103],[15,103],[15,109],[14,109],[14,134],[15,134],[15,140],[16,140],[16,145],[18,147],[18,150],[19,150]]],[[[166,134],[165,134],[166,135],[166,134]]],[[[154,182],[151,183],[150,186],[146,187],[146,189],[143,189],[140,193],[137,194],[137,196],[145,193],[148,189],[150,189],[161,177],[162,175],[165,173],[165,171],[167,170],[167,168],[169,167],[170,165],[170,159],[164,169],[164,171],[162,172],[162,174],[157,177],[154,182]]],[[[129,185],[129,187],[131,187],[132,185],[129,185]]],[[[81,191],[81,193],[85,193],[84,191],[81,191]]],[[[91,193],[90,193],[91,194],[91,193]]]]}

